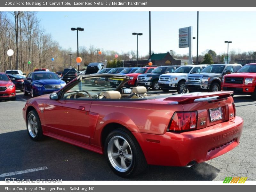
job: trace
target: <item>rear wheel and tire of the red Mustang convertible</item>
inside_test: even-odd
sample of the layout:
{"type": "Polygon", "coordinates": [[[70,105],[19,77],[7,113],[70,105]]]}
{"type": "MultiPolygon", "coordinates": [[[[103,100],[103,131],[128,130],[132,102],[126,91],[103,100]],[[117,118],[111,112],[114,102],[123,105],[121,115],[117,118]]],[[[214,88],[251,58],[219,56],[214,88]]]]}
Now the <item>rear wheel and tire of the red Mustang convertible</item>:
{"type": "Polygon", "coordinates": [[[138,141],[131,132],[124,128],[118,128],[108,134],[105,141],[104,152],[112,171],[121,177],[127,178],[138,175],[147,168],[148,164],[138,141]],[[119,147],[121,147],[120,151],[116,147],[116,140],[119,143],[119,147]],[[128,145],[126,145],[127,147],[123,151],[125,141],[128,145]],[[113,144],[113,142],[115,144],[113,144]],[[117,154],[116,158],[113,157],[114,153],[117,154]],[[126,158],[127,155],[130,155],[131,161],[128,157],[126,158]],[[122,158],[124,159],[125,166],[127,166],[126,168],[120,167],[122,166],[122,158]]]}

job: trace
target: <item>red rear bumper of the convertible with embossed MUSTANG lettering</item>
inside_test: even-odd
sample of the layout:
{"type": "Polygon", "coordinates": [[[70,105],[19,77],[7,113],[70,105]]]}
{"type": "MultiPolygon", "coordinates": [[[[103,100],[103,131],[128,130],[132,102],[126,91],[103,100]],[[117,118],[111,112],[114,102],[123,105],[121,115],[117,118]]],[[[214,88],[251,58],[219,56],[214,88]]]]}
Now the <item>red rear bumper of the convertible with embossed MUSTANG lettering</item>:
{"type": "Polygon", "coordinates": [[[154,135],[132,132],[138,140],[148,164],[186,166],[191,161],[202,163],[239,144],[242,118],[235,118],[203,129],[154,135]]]}

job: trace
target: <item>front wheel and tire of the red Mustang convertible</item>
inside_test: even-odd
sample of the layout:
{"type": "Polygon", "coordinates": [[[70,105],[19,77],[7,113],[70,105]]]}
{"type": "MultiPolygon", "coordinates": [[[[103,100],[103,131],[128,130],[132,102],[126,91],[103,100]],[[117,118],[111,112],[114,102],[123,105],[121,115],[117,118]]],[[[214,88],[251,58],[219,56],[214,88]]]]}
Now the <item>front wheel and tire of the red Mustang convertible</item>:
{"type": "Polygon", "coordinates": [[[28,112],[26,124],[27,124],[28,135],[32,140],[38,141],[43,138],[43,130],[42,130],[42,126],[41,126],[41,121],[40,121],[40,118],[39,118],[36,110],[31,110],[28,112]],[[31,120],[32,120],[32,122],[34,122],[33,125],[32,125],[31,120]]]}

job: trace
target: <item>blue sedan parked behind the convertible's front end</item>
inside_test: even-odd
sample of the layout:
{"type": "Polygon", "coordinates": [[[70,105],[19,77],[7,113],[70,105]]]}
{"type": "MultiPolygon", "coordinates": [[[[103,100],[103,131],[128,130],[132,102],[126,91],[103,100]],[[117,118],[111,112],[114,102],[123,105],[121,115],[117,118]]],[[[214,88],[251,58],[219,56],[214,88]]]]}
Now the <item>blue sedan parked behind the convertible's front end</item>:
{"type": "Polygon", "coordinates": [[[31,72],[28,74],[27,78],[24,79],[23,94],[28,95],[28,93],[30,93],[31,97],[36,97],[38,95],[58,91],[65,85],[65,81],[62,81],[61,77],[54,72],[31,72]]]}

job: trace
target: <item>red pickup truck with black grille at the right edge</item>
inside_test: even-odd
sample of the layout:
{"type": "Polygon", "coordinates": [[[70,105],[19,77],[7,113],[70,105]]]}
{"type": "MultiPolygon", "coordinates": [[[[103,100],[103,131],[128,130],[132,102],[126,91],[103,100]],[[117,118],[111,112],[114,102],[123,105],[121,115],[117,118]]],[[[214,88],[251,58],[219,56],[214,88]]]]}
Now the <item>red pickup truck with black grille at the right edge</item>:
{"type": "Polygon", "coordinates": [[[225,75],[222,78],[221,89],[252,95],[256,100],[256,63],[246,64],[237,73],[225,75]]]}

